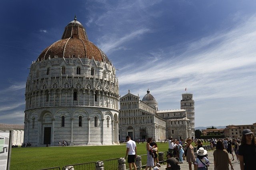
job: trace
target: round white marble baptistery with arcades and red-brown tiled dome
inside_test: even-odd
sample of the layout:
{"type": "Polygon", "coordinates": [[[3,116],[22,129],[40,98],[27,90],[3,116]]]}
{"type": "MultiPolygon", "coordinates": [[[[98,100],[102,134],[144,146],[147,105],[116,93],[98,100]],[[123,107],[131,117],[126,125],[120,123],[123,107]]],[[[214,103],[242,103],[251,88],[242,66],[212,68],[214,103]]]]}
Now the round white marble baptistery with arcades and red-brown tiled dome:
{"type": "Polygon", "coordinates": [[[76,17],[32,62],[25,97],[25,143],[118,144],[116,69],[76,17]]]}

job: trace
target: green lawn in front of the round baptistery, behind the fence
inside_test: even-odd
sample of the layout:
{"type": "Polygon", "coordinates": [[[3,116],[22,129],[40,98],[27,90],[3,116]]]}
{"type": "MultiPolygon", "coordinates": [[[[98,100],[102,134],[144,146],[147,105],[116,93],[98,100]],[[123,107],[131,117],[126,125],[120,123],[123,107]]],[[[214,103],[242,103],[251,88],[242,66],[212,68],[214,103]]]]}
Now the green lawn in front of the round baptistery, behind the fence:
{"type": "MultiPolygon", "coordinates": [[[[158,144],[158,150],[167,151],[168,143],[158,144]]],[[[193,144],[194,146],[194,144],[193,144]]],[[[121,158],[126,154],[126,144],[114,146],[60,146],[12,148],[11,170],[36,170],[50,167],[96,162],[121,158]]],[[[137,154],[146,154],[146,142],[137,144],[137,154]]]]}

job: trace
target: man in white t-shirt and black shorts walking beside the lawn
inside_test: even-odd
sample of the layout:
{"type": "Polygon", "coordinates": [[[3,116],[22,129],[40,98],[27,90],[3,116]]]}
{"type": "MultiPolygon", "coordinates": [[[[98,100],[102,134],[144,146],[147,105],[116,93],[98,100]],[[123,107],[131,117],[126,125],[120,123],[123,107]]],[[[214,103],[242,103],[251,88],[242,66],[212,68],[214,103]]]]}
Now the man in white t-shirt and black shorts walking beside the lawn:
{"type": "Polygon", "coordinates": [[[126,155],[125,155],[125,159],[128,155],[128,164],[129,164],[129,168],[130,170],[132,170],[132,165],[134,167],[134,170],[137,170],[137,167],[135,165],[135,158],[137,156],[137,147],[136,147],[136,142],[134,142],[133,140],[131,140],[130,136],[126,136],[126,155]]]}

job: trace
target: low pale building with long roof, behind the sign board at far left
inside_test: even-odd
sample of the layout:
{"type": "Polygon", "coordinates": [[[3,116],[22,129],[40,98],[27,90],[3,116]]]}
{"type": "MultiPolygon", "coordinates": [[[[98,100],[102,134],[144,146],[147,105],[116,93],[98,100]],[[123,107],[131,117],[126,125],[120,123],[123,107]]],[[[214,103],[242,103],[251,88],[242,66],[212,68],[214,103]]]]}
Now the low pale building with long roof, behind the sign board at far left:
{"type": "Polygon", "coordinates": [[[0,123],[0,130],[13,130],[12,131],[12,145],[21,145],[24,138],[24,125],[3,124],[0,123]]]}

